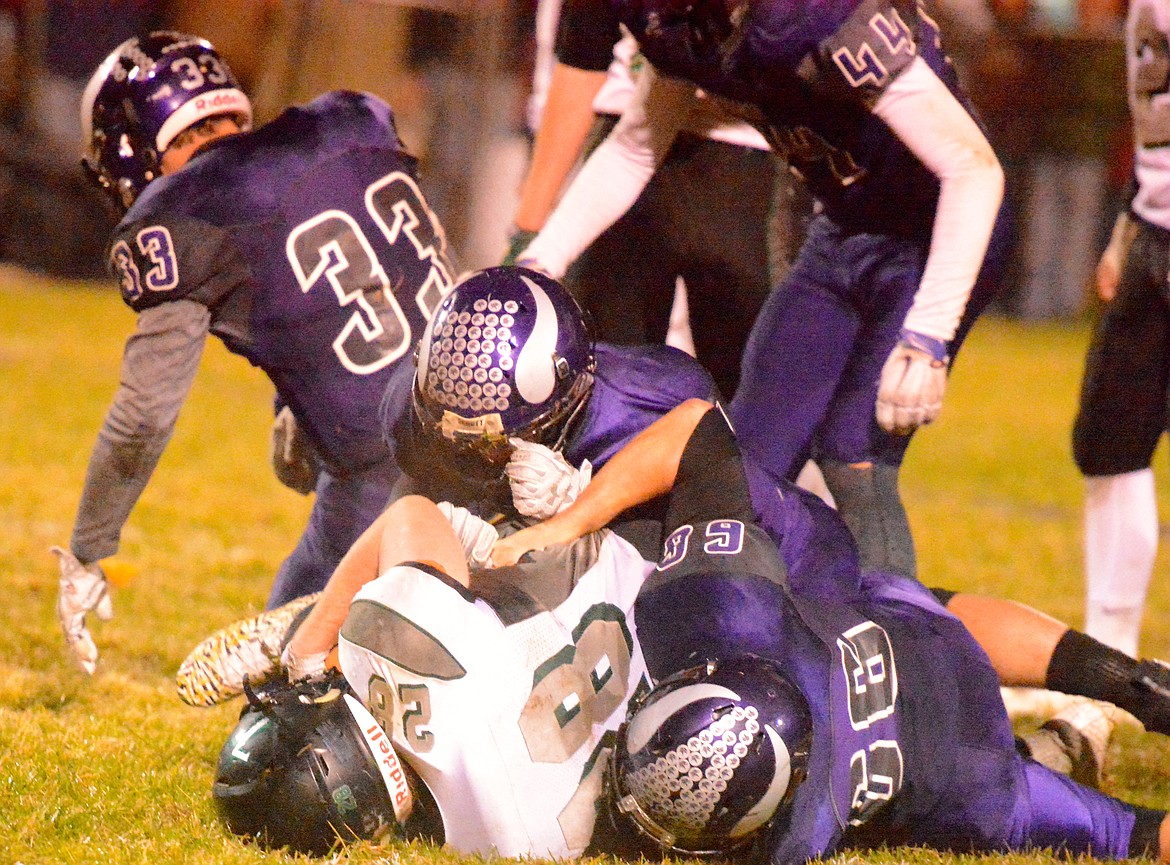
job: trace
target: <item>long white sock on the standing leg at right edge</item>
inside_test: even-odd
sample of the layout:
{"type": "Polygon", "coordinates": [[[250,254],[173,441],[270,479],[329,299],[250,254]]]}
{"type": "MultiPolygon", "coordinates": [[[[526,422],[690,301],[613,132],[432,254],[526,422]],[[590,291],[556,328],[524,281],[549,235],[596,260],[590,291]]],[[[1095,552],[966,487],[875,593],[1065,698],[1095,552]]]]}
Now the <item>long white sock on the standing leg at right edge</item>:
{"type": "Polygon", "coordinates": [[[1158,548],[1154,471],[1085,481],[1085,632],[1136,658],[1158,548]]]}

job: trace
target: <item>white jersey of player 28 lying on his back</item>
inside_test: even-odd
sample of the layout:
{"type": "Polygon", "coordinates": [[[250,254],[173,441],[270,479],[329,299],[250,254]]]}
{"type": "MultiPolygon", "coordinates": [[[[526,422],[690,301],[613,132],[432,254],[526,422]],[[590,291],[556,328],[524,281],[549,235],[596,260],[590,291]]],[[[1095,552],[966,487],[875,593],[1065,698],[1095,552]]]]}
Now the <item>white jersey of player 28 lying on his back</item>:
{"type": "Polygon", "coordinates": [[[342,627],[350,686],[461,852],[576,857],[592,836],[611,732],[648,687],[633,604],[653,563],[610,531],[585,543],[552,609],[514,592],[509,611],[402,564],[358,592],[342,627]]]}

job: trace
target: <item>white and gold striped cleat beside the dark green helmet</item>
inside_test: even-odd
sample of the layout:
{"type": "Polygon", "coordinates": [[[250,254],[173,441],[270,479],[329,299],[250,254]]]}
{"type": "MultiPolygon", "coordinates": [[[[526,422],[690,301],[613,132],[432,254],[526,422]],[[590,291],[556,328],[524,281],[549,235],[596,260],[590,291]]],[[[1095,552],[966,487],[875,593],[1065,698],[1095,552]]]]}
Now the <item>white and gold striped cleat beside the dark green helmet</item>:
{"type": "Polygon", "coordinates": [[[281,671],[281,650],[321,592],[233,623],[205,639],[179,666],[174,680],[188,706],[218,706],[281,671]]]}

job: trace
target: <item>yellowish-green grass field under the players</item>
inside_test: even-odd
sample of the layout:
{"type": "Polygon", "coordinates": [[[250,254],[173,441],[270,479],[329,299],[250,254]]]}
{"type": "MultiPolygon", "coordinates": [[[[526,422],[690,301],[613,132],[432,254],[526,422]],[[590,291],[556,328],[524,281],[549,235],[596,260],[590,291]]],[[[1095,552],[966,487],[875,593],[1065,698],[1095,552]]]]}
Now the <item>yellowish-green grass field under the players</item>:
{"type": "MultiPolygon", "coordinates": [[[[54,615],[89,448],[132,316],[112,289],[0,269],[0,840],[4,863],[281,863],[227,837],[209,799],[238,706],[192,709],[173,674],[212,630],[262,607],[309,500],[268,467],[271,386],[219,344],[123,535],[137,578],[96,623],[90,679],[54,615]]],[[[1068,431],[1087,327],[989,320],[976,328],[942,420],[911,448],[904,494],[930,584],[1009,595],[1081,616],[1080,478],[1068,431]]],[[[1164,454],[1156,471],[1165,480],[1164,454]]],[[[1163,487],[1168,485],[1163,483],[1163,487]]],[[[1161,490],[1163,513],[1170,513],[1161,490]]],[[[1159,556],[1143,648],[1170,657],[1159,556]]],[[[1106,788],[1170,805],[1170,743],[1123,729],[1106,788]]],[[[979,857],[890,851],[879,863],[979,857]]],[[[421,846],[353,847],[336,861],[461,860],[421,846]]],[[[1044,854],[996,861],[1055,861],[1044,854]]],[[[842,857],[841,863],[846,861],[842,857]]]]}

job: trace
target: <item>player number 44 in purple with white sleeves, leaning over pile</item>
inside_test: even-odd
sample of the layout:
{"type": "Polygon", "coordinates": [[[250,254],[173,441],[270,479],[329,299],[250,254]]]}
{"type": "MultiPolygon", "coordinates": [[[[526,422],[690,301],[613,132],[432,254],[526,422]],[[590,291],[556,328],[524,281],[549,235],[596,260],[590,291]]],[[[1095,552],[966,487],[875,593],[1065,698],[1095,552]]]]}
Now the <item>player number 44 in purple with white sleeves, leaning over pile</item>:
{"type": "Polygon", "coordinates": [[[521,263],[563,273],[620,215],[696,84],[741,103],[820,212],[752,329],[736,432],[780,475],[814,456],[862,559],[914,575],[897,471],[990,300],[977,277],[1003,195],[937,26],[901,0],[566,0],[562,55],[614,20],[648,62],[640,98],[521,263]]]}

